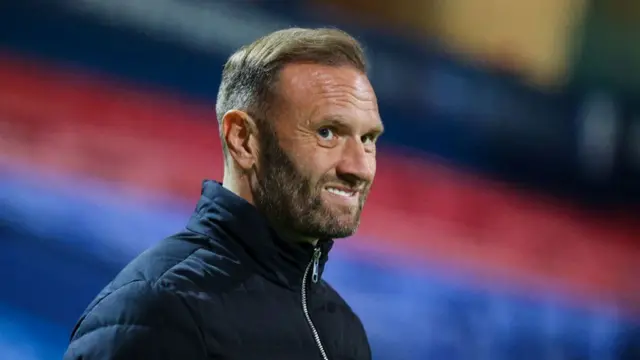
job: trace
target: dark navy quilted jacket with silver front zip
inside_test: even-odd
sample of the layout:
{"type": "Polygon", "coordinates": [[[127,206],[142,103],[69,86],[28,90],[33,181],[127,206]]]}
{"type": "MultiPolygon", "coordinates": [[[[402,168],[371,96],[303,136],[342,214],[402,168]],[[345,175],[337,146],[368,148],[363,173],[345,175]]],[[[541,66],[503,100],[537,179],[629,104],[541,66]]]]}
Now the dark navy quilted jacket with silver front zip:
{"type": "Polygon", "coordinates": [[[186,229],[100,292],[64,359],[370,359],[360,320],[322,280],[332,244],[286,243],[205,181],[186,229]]]}

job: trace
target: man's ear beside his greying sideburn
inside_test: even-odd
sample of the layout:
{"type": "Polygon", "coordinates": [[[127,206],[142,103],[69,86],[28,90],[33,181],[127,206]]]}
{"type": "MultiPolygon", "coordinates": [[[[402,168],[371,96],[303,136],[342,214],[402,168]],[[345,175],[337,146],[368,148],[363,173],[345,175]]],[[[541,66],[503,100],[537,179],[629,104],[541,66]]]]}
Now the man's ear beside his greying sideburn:
{"type": "Polygon", "coordinates": [[[229,156],[242,170],[251,169],[258,157],[255,121],[244,111],[230,110],[222,118],[221,130],[229,156]]]}

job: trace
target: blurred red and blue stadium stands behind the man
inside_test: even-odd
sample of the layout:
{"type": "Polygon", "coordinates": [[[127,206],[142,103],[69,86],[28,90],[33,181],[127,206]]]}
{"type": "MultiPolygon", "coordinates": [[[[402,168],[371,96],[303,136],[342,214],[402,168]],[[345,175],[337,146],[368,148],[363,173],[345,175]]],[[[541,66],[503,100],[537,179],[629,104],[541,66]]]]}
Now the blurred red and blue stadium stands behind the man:
{"type": "Polygon", "coordinates": [[[57,359],[93,296],[220,179],[226,57],[366,45],[388,129],[328,278],[375,359],[640,359],[640,2],[0,2],[0,358],[57,359]]]}

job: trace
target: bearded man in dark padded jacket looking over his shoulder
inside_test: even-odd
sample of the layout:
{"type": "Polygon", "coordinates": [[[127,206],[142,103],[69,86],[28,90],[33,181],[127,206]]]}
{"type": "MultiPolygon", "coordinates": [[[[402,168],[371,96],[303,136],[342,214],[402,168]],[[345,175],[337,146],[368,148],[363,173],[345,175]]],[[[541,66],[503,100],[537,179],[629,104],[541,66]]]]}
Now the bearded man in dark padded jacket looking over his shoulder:
{"type": "Polygon", "coordinates": [[[65,359],[370,359],[322,273],[358,227],[382,123],[358,42],[287,29],[233,54],[216,112],[223,184],[89,305],[65,359]]]}

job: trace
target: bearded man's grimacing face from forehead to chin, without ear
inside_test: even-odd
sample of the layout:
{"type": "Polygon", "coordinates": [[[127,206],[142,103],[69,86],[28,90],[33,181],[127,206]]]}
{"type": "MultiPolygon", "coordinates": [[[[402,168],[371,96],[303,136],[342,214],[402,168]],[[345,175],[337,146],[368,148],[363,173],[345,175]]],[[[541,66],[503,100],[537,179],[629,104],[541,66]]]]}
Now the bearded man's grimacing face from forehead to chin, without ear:
{"type": "Polygon", "coordinates": [[[369,80],[351,67],[291,64],[278,91],[271,118],[259,122],[256,206],[298,236],[352,235],[382,133],[369,80]]]}

